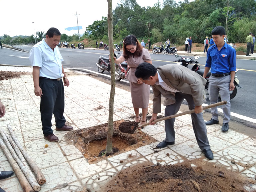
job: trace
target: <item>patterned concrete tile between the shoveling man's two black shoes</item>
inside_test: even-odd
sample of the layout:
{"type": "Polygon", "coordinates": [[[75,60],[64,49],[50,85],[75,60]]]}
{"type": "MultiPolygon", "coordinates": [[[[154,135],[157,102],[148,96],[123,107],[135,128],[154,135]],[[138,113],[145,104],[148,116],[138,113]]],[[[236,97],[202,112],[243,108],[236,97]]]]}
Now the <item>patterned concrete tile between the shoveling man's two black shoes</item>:
{"type": "Polygon", "coordinates": [[[196,159],[203,156],[197,143],[187,141],[178,145],[172,145],[169,148],[184,156],[187,159],[196,159]]]}

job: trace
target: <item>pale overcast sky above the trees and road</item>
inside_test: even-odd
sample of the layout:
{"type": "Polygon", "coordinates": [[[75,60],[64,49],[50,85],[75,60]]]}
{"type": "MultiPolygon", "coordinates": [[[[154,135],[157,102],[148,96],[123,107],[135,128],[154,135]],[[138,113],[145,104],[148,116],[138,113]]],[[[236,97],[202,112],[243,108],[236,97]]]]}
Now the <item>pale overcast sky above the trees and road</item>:
{"type": "MultiPolygon", "coordinates": [[[[153,7],[157,0],[136,0],[142,7],[153,7]]],[[[112,0],[112,7],[115,9],[119,0],[112,0]]],[[[163,0],[159,0],[162,4],[163,0]]],[[[96,20],[107,17],[107,0],[9,0],[1,4],[0,36],[4,34],[11,37],[16,35],[35,35],[36,31],[44,33],[51,27],[59,29],[63,34],[77,34],[77,30],[64,30],[68,27],[77,26],[76,16],[80,35],[96,20]],[[50,3],[48,3],[50,2],[50,3]],[[6,7],[4,6],[6,5],[6,7]]]]}

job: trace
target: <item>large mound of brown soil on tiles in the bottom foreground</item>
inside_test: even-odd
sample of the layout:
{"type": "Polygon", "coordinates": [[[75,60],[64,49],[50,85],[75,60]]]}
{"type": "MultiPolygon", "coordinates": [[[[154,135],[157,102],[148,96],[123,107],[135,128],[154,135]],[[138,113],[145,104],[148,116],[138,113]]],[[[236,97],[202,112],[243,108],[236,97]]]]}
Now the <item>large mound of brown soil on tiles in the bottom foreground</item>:
{"type": "MultiPolygon", "coordinates": [[[[234,174],[234,173],[233,173],[234,174]]],[[[238,178],[239,177],[239,178],[238,178]]],[[[244,192],[248,181],[230,177],[226,171],[193,169],[190,164],[181,165],[136,165],[124,169],[108,182],[108,192],[244,192]]]]}

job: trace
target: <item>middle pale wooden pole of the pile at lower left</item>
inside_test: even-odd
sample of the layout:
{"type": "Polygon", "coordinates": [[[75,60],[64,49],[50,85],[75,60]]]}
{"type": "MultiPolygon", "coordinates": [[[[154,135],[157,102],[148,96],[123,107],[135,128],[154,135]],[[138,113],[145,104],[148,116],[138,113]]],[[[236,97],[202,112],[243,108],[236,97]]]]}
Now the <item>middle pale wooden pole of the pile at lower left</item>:
{"type": "Polygon", "coordinates": [[[22,161],[19,159],[18,155],[15,153],[14,149],[12,148],[12,145],[10,144],[10,142],[8,141],[4,131],[2,130],[2,128],[0,128],[0,133],[3,136],[3,139],[10,151],[10,153],[12,154],[13,158],[15,159],[15,161],[17,162],[17,164],[19,165],[20,169],[22,170],[22,172],[24,173],[24,175],[27,177],[27,180],[29,181],[29,183],[31,184],[32,188],[35,191],[40,191],[41,187],[40,185],[37,183],[35,176],[33,175],[33,173],[31,172],[31,170],[28,168],[26,168],[24,166],[24,164],[22,163],[22,161]]]}

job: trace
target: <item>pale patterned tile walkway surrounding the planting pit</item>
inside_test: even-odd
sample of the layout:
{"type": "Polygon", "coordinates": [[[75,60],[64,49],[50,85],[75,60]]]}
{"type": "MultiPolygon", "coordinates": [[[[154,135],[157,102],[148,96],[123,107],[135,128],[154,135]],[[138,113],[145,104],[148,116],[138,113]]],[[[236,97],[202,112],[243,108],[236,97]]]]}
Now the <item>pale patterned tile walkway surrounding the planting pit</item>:
{"type": "MultiPolygon", "coordinates": [[[[30,67],[14,69],[31,71],[30,67]]],[[[0,70],[10,69],[1,66],[0,70]]],[[[110,85],[87,75],[69,76],[68,79],[70,86],[65,87],[64,116],[74,130],[107,123],[110,85]],[[93,110],[100,106],[103,108],[93,110]]],[[[111,179],[111,176],[133,164],[150,161],[154,164],[159,162],[167,165],[198,158],[201,158],[205,164],[211,162],[217,167],[222,166],[236,171],[248,179],[256,179],[255,138],[235,132],[232,128],[227,133],[223,133],[220,125],[207,126],[208,139],[214,153],[214,159],[210,161],[204,157],[196,143],[190,115],[185,115],[176,118],[174,145],[154,153],[153,147],[165,139],[164,122],[159,122],[142,130],[158,142],[89,164],[74,145],[65,142],[66,132],[55,131],[54,124],[54,134],[60,141],[51,143],[43,138],[39,111],[40,98],[34,95],[32,74],[0,81],[0,98],[7,111],[0,119],[0,127],[7,130],[6,126],[10,124],[19,141],[41,168],[47,179],[47,182],[41,186],[42,192],[85,191],[86,188],[91,191],[105,191],[103,185],[111,179]],[[45,144],[49,147],[45,148],[45,144]],[[166,156],[166,153],[170,155],[166,156]],[[132,154],[132,157],[128,157],[129,154],[132,154]],[[120,160],[123,160],[123,163],[120,163],[120,160]],[[235,163],[231,163],[231,160],[235,163]]],[[[124,106],[132,107],[130,92],[116,87],[114,121],[134,115],[132,109],[122,110],[124,106]]],[[[163,106],[162,110],[164,112],[163,106]]],[[[149,113],[152,113],[152,105],[149,106],[149,113]]],[[[52,122],[54,123],[54,118],[52,122]]],[[[1,171],[12,170],[1,149],[0,167],[1,171]]],[[[1,180],[0,186],[10,192],[23,191],[15,174],[1,180]]],[[[256,185],[251,184],[245,189],[255,191],[256,185]]]]}

